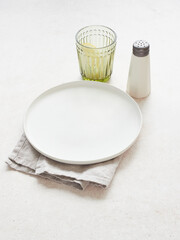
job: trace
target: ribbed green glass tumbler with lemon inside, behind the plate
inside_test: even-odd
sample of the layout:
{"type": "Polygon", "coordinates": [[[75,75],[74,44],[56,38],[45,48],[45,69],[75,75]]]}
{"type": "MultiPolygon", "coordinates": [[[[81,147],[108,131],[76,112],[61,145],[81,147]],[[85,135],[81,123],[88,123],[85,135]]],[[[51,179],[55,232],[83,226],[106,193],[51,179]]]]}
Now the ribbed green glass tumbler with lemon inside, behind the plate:
{"type": "Polygon", "coordinates": [[[84,80],[107,82],[112,74],[116,33],[105,26],[92,25],[76,34],[80,72],[84,80]]]}

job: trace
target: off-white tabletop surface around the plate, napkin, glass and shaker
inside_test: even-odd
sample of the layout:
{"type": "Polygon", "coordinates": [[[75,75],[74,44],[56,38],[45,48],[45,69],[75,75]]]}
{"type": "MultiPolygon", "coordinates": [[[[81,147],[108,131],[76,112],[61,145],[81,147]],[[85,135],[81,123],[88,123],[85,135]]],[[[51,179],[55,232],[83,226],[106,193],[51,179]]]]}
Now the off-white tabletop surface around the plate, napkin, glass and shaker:
{"type": "Polygon", "coordinates": [[[180,239],[180,1],[0,1],[0,239],[180,239]],[[9,170],[24,113],[44,90],[80,79],[74,35],[118,35],[110,84],[126,89],[132,43],[151,44],[144,124],[109,189],[69,187],[9,170]]]}

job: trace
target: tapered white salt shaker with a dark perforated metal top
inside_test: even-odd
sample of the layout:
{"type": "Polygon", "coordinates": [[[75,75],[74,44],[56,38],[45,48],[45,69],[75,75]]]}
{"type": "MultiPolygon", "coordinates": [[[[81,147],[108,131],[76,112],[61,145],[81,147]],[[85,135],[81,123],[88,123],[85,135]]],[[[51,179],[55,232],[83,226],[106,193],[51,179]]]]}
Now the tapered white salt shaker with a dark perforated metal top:
{"type": "Polygon", "coordinates": [[[134,98],[144,98],[150,94],[149,43],[138,40],[133,44],[127,93],[134,98]]]}

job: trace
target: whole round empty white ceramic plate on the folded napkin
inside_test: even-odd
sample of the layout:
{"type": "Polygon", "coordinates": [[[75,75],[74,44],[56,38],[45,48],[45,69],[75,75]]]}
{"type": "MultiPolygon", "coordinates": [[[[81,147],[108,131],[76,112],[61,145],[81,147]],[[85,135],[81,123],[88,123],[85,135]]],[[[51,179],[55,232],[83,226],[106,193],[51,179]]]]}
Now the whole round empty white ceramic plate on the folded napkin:
{"type": "Polygon", "coordinates": [[[43,155],[69,164],[112,159],[139,135],[136,102],[106,83],[77,81],[49,89],[30,105],[24,130],[43,155]]]}

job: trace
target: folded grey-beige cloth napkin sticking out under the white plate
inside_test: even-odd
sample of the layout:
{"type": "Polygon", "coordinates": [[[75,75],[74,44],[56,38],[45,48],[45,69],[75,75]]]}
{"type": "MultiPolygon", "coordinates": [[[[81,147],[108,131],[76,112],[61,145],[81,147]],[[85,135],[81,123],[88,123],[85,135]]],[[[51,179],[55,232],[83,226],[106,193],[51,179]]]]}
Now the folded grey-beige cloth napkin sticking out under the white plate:
{"type": "Polygon", "coordinates": [[[15,170],[84,190],[89,184],[107,188],[120,159],[121,157],[116,157],[92,165],[59,163],[37,152],[23,134],[6,163],[15,170]]]}

